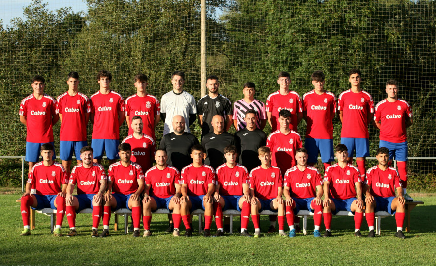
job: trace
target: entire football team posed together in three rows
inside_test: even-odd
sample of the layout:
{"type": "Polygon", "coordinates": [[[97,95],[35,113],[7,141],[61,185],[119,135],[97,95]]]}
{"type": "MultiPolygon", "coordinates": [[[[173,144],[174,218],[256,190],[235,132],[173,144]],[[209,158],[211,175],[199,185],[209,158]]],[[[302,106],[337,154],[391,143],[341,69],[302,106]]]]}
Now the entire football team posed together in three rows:
{"type": "Polygon", "coordinates": [[[204,211],[203,236],[220,237],[229,226],[226,210],[241,213],[240,235],[262,236],[260,213],[272,211],[268,233],[283,237],[301,233],[300,210],[313,213],[314,237],[332,236],[332,215],[354,214],[354,235],[361,237],[365,218],[368,237],[375,237],[375,212],[395,214],[395,236],[405,238],[403,222],[407,194],[407,135],[412,109],[398,98],[397,81],[386,82],[386,98],[374,105],[361,86],[361,73],[348,73],[351,88],[335,95],[324,88],[322,71],[311,75],[313,89],[300,97],[289,89],[291,79],[280,72],[279,90],[266,104],[255,99],[255,84],[243,85],[243,99],[232,103],[219,93],[217,76],[206,78],[208,93],[198,102],[184,90],[185,73],[172,73],[173,89],[159,100],[147,93],[148,77],[134,77],[137,92],[124,99],[110,89],[112,75],[97,74],[99,91],[90,97],[78,91],[79,75],[70,72],[68,90],[57,99],[44,93],[45,80],[35,76],[33,93],[21,101],[20,121],[26,125],[26,161],[29,176],[21,197],[22,236],[31,235],[30,208],[57,210],[55,236],[62,236],[64,216],[68,237],[77,235],[76,214],[92,209],[92,237],[107,237],[111,213],[131,210],[133,236],[152,236],[151,221],[157,209],[169,212],[166,232],[193,233],[192,212],[204,211]],[[341,142],[333,145],[333,119],[342,124],[341,142]],[[198,119],[200,141],[189,126],[198,119]],[[307,125],[303,141],[297,126],[307,125]],[[128,136],[120,143],[120,126],[128,136]],[[163,121],[163,137],[156,145],[155,129],[163,121]],[[59,156],[55,162],[53,125],[60,128],[59,156]],[[91,145],[87,125],[93,124],[91,145]],[[266,124],[272,128],[267,135],[266,124]],[[369,157],[368,126],[380,131],[377,164],[366,167],[369,157]],[[228,133],[234,126],[237,132],[228,133]],[[71,167],[73,153],[77,165],[71,167]],[[103,155],[109,168],[101,165],[103,155]],[[42,161],[40,160],[40,156],[42,161]],[[321,157],[324,176],[314,167],[321,157]],[[335,157],[337,162],[335,162],[335,157]],[[355,158],[356,165],[353,165],[355,158]],[[391,166],[396,160],[397,168],[391,166]],[[39,162],[38,162],[39,161],[39,162]],[[73,195],[76,188],[76,194],[73,195]],[[249,218],[254,233],[248,232],[249,218]],[[211,226],[215,219],[216,233],[211,226]],[[321,223],[324,220],[325,232],[321,223]],[[100,222],[102,232],[98,231],[100,222]],[[285,221],[288,228],[285,228],[285,221]],[[276,230],[276,222],[278,230],[276,230]]]}

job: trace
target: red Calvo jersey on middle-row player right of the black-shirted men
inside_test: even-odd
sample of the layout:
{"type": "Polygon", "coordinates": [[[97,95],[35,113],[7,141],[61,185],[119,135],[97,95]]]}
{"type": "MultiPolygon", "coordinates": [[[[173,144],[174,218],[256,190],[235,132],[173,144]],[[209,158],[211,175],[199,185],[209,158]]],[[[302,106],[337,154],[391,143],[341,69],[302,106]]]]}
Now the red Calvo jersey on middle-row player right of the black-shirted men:
{"type": "Polygon", "coordinates": [[[295,150],[303,147],[300,134],[291,130],[287,135],[280,130],[271,133],[266,140],[271,149],[271,165],[280,168],[282,173],[296,165],[295,150]]]}

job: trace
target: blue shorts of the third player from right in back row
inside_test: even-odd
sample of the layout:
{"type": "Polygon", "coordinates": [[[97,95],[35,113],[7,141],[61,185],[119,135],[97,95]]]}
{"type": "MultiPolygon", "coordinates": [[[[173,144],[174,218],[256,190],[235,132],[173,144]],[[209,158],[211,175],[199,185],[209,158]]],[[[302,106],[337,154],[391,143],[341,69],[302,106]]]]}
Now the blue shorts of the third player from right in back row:
{"type": "Polygon", "coordinates": [[[321,154],[321,161],[323,163],[332,162],[335,160],[333,154],[333,140],[321,138],[306,138],[304,147],[306,147],[309,155],[308,163],[318,162],[318,152],[321,154]]]}

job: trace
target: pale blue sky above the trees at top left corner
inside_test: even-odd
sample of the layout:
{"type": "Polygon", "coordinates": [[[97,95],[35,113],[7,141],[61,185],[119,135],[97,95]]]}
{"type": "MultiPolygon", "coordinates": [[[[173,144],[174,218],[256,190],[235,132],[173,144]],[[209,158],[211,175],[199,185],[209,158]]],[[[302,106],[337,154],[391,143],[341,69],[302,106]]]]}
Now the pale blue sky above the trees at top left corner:
{"type": "MultiPolygon", "coordinates": [[[[47,8],[53,11],[62,7],[71,7],[73,12],[87,10],[84,0],[43,0],[42,2],[48,3],[47,8]]],[[[3,20],[3,25],[10,26],[13,18],[23,18],[23,8],[30,4],[30,0],[0,0],[0,19],[3,20]]]]}

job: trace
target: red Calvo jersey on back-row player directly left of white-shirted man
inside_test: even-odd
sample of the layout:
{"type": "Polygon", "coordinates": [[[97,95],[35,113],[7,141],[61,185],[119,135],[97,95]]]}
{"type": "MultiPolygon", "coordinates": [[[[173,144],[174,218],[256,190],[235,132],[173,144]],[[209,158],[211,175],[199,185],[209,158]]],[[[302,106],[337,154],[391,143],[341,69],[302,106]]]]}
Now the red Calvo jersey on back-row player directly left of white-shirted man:
{"type": "MultiPolygon", "coordinates": [[[[155,96],[147,94],[140,97],[134,94],[125,99],[124,109],[125,115],[129,116],[130,124],[133,116],[140,116],[144,123],[143,133],[155,138],[155,116],[160,115],[160,103],[155,96]]],[[[133,134],[132,127],[129,127],[128,134],[133,134]]]]}

